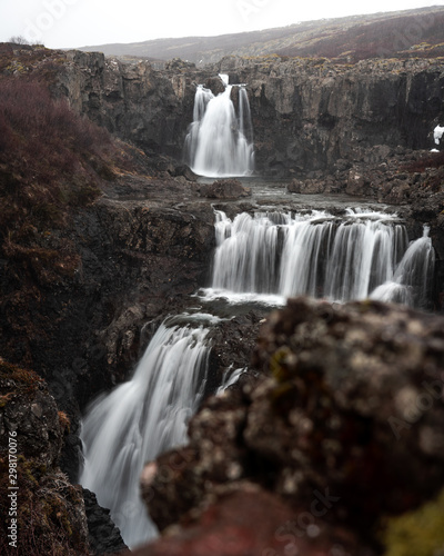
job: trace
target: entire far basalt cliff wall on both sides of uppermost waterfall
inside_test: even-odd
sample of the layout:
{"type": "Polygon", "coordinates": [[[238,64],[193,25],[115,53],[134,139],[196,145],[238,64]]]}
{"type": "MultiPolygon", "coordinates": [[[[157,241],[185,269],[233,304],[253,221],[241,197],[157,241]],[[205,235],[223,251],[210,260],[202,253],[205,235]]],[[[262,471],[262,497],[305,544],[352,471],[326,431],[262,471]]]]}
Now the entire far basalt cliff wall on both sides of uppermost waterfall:
{"type": "Polygon", "coordinates": [[[440,59],[364,60],[228,57],[202,70],[173,60],[157,71],[148,62],[123,64],[100,53],[68,52],[58,89],[72,106],[148,152],[181,159],[192,121],[195,87],[219,72],[246,83],[256,170],[270,176],[334,171],[376,145],[433,147],[444,118],[440,59]]]}

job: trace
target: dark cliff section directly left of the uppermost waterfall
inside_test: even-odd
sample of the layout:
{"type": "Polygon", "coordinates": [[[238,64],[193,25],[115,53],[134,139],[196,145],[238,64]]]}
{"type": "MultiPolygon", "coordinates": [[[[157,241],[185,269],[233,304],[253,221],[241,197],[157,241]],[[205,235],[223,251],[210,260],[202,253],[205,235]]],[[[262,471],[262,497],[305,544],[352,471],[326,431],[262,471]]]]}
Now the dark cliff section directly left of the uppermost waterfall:
{"type": "Polygon", "coordinates": [[[100,52],[70,51],[56,89],[72,107],[145,152],[181,159],[192,121],[195,82],[211,73],[173,60],[163,71],[149,62],[122,63],[100,52]]]}

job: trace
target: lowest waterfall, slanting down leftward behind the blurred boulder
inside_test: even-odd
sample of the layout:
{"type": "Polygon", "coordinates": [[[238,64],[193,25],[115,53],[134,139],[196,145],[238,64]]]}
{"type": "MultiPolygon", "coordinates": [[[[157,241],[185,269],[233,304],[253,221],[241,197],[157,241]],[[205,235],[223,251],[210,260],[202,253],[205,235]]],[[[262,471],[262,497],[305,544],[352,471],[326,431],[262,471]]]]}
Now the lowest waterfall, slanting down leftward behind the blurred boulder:
{"type": "Polygon", "coordinates": [[[145,461],[184,444],[206,379],[208,329],[161,325],[133,378],[95,400],[81,427],[80,483],[111,509],[129,546],[157,534],[139,490],[145,461]]]}

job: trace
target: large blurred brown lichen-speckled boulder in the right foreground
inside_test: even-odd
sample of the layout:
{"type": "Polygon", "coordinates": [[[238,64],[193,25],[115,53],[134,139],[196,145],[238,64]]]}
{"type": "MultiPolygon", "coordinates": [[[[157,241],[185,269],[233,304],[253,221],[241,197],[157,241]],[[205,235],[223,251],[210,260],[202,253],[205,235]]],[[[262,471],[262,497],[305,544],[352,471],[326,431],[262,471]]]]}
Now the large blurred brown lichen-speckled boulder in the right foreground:
{"type": "MultiPolygon", "coordinates": [[[[178,554],[190,554],[180,539],[210,516],[236,528],[223,508],[251,483],[287,508],[272,535],[276,554],[292,539],[310,545],[324,535],[330,549],[341,544],[337,554],[381,554],[381,518],[421,505],[444,484],[443,324],[380,302],[303,298],[270,316],[255,350],[256,383],[209,399],[190,424],[189,446],[143,471],[152,518],[161,529],[180,524],[153,554],[174,542],[178,554]],[[339,530],[354,548],[337,542],[339,530]]],[[[273,518],[264,509],[254,523],[273,518]]],[[[260,539],[263,530],[249,535],[260,539]]]]}

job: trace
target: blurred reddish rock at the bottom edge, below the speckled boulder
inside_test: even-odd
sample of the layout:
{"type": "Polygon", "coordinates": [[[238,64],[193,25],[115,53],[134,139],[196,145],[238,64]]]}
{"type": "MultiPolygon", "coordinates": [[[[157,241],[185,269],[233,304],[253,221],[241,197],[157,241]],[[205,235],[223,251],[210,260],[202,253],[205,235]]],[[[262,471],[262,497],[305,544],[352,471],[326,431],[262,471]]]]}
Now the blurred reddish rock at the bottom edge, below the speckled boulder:
{"type": "Polygon", "coordinates": [[[279,497],[251,483],[218,495],[199,520],[185,519],[165,536],[134,556],[371,556],[356,546],[351,532],[285,505],[279,497]]]}

